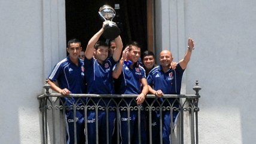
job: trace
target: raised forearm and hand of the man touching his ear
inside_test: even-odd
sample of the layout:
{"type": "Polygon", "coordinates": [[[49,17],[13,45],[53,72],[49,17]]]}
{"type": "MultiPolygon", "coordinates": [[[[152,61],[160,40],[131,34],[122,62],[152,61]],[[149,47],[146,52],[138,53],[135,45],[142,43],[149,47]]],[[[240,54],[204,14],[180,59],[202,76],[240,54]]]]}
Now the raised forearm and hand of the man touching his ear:
{"type": "Polygon", "coordinates": [[[124,65],[124,60],[126,60],[128,52],[129,52],[129,46],[124,48],[122,57],[121,57],[120,61],[117,63],[117,65],[115,66],[114,71],[112,72],[112,77],[113,78],[117,79],[121,75],[122,68],[123,68],[123,65],[124,65]]]}

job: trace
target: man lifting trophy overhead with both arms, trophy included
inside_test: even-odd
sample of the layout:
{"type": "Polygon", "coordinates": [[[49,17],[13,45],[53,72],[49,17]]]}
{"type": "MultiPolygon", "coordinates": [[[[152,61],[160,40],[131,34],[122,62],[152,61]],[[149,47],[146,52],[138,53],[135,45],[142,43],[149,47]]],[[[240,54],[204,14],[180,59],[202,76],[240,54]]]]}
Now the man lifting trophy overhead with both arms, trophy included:
{"type": "MultiPolygon", "coordinates": [[[[106,20],[103,22],[102,28],[88,42],[85,53],[84,65],[86,68],[87,94],[114,94],[112,68],[118,62],[123,48],[123,42],[119,36],[120,31],[112,31],[113,29],[117,30],[118,27],[115,27],[115,23],[108,19],[108,17],[112,16],[112,10],[103,9],[102,11],[104,13],[100,14],[105,14],[102,17],[106,20]],[[116,48],[111,57],[108,57],[108,45],[103,41],[98,41],[100,36],[105,36],[106,39],[114,39],[116,48]]],[[[88,136],[87,142],[95,144],[99,140],[99,143],[111,144],[115,126],[115,111],[108,110],[106,107],[115,106],[114,102],[106,97],[102,99],[88,97],[87,103],[89,105],[86,121],[87,129],[85,130],[88,136]],[[107,121],[108,124],[106,123],[107,121]],[[96,133],[97,131],[98,133],[96,133]]]]}

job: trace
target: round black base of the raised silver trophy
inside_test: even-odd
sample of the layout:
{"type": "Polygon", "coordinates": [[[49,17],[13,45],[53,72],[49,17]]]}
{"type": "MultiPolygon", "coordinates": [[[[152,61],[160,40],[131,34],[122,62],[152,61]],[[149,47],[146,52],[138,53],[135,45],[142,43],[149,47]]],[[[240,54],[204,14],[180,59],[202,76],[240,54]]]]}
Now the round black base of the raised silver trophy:
{"type": "Polygon", "coordinates": [[[102,34],[104,38],[111,40],[117,38],[118,35],[120,35],[120,29],[117,27],[117,24],[115,23],[107,24],[102,34]]]}

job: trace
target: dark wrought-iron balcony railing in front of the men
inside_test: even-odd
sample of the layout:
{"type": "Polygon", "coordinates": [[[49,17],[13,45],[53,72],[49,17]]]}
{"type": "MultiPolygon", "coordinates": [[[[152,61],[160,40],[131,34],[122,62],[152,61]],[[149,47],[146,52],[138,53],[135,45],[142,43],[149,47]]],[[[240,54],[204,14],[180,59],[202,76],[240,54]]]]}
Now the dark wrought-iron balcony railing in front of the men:
{"type": "MultiPolygon", "coordinates": [[[[47,143],[66,143],[66,120],[65,112],[73,111],[74,115],[77,111],[84,112],[84,120],[87,121],[87,112],[96,111],[96,116],[99,111],[105,111],[106,117],[108,117],[109,112],[115,112],[116,121],[115,121],[115,133],[113,134],[112,143],[107,142],[108,144],[120,144],[120,112],[127,112],[129,117],[130,112],[138,112],[140,116],[141,113],[146,115],[146,124],[147,124],[147,144],[154,144],[153,130],[152,130],[152,114],[153,112],[159,112],[160,114],[160,128],[159,136],[160,143],[162,144],[162,130],[163,130],[163,112],[179,112],[178,118],[176,121],[170,121],[171,133],[170,133],[170,142],[171,143],[199,143],[198,135],[198,103],[199,103],[199,90],[201,88],[198,86],[198,81],[196,81],[196,86],[193,87],[193,90],[196,91],[196,94],[166,94],[163,96],[163,101],[159,102],[159,98],[153,94],[148,94],[147,98],[143,105],[131,105],[132,102],[136,102],[135,99],[137,95],[133,94],[70,94],[69,96],[62,96],[58,93],[50,93],[50,85],[46,82],[44,85],[45,93],[41,96],[38,96],[39,99],[39,110],[41,116],[41,142],[43,144],[47,143]],[[66,100],[75,98],[76,101],[72,105],[68,105],[66,100],[63,100],[65,97],[66,100]],[[86,99],[86,100],[85,100],[86,99]],[[94,100],[96,102],[94,102],[94,100]],[[108,99],[108,102],[105,102],[104,99],[108,99]],[[126,102],[127,99],[130,99],[130,102],[126,102]],[[170,101],[170,99],[172,99],[170,101]],[[103,103],[99,105],[99,103],[103,103]],[[114,105],[109,105],[109,103],[114,103],[114,105]],[[178,103],[178,105],[176,104],[178,103]]],[[[106,119],[108,120],[108,119],[106,119]]],[[[138,118],[138,125],[140,125],[140,117],[138,118]]],[[[172,116],[171,119],[172,120],[172,116]]],[[[72,121],[76,121],[74,116],[72,121]]],[[[130,120],[128,119],[128,124],[130,120]]],[[[87,121],[88,122],[88,121],[87,121]]],[[[88,144],[88,127],[87,122],[84,122],[84,139],[86,144],[88,144]]],[[[98,128],[97,117],[96,117],[96,133],[98,128]]],[[[106,122],[108,124],[108,122],[106,122]]],[[[108,128],[108,125],[106,126],[108,128]]],[[[75,144],[77,144],[77,124],[74,122],[74,137],[75,144]]],[[[130,137],[130,127],[127,129],[127,134],[130,137]]],[[[138,127],[140,131],[140,127],[138,127]]],[[[106,136],[109,136],[108,130],[106,130],[106,136]]],[[[145,138],[145,137],[144,137],[145,138]]],[[[99,143],[100,137],[96,134],[96,144],[99,143]]],[[[142,138],[139,136],[139,143],[141,143],[142,138]]],[[[128,143],[132,143],[129,142],[128,143]]],[[[89,143],[90,144],[90,143],[89,143]]]]}

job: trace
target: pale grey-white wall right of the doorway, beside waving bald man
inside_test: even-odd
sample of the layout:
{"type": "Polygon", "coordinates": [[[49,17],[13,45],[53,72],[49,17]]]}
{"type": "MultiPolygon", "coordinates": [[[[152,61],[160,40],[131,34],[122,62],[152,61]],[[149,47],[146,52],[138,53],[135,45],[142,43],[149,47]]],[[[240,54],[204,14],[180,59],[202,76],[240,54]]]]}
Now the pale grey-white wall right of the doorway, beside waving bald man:
{"type": "Polygon", "coordinates": [[[177,62],[187,38],[196,43],[182,88],[194,93],[197,79],[202,87],[199,143],[255,143],[256,1],[156,3],[156,19],[163,20],[156,26],[157,48],[169,48],[177,62]]]}

